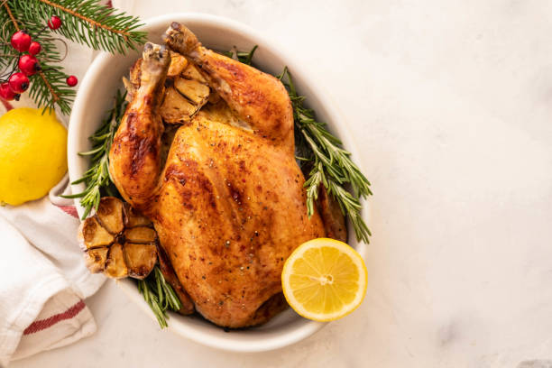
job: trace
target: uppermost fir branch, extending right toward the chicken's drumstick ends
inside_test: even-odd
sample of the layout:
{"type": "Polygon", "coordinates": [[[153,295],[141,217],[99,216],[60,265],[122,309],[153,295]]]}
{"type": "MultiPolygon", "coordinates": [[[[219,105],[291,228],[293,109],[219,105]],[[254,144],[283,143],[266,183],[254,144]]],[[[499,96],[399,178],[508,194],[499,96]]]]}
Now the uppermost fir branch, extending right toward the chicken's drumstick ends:
{"type": "Polygon", "coordinates": [[[137,17],[117,13],[100,4],[100,0],[15,0],[15,3],[26,19],[36,20],[37,14],[47,15],[46,19],[59,16],[63,25],[54,32],[94,50],[124,53],[136,50],[146,40],[146,32],[136,31],[143,25],[137,17]]]}

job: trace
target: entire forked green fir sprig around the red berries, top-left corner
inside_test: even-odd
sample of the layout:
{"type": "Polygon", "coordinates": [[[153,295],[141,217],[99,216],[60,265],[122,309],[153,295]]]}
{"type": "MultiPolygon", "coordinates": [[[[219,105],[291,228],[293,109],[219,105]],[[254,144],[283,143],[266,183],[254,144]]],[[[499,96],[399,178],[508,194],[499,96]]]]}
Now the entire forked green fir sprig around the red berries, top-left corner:
{"type": "Polygon", "coordinates": [[[21,55],[11,47],[10,40],[14,32],[24,29],[42,48],[36,55],[41,71],[29,78],[29,95],[38,106],[58,106],[66,115],[70,113],[75,90],[67,86],[64,69],[55,64],[61,58],[56,47],[58,39],[51,37],[51,32],[94,50],[112,53],[135,50],[145,41],[146,33],[137,31],[142,26],[138,18],[102,5],[100,0],[4,0],[0,4],[0,54],[3,55],[0,82],[17,69],[21,55]],[[46,25],[52,15],[59,16],[62,22],[55,31],[46,25]]]}

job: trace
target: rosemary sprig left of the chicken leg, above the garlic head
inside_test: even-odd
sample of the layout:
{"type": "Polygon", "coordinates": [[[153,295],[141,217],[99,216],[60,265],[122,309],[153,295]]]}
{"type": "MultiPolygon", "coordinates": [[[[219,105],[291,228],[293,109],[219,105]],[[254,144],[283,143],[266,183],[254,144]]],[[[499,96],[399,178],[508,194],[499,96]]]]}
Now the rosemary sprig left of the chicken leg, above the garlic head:
{"type": "Polygon", "coordinates": [[[109,196],[117,195],[116,189],[111,185],[112,180],[109,175],[109,150],[127,105],[124,100],[125,96],[126,92],[121,93],[117,90],[115,106],[107,113],[102,126],[88,138],[92,142],[92,149],[87,152],[78,152],[80,156],[90,157],[90,168],[82,178],[73,181],[71,184],[85,182],[86,189],[77,194],[61,196],[63,198],[80,198],[80,205],[85,208],[82,215],[83,220],[87,218],[92,208],[97,209],[99,206],[102,191],[105,191],[109,196]]]}

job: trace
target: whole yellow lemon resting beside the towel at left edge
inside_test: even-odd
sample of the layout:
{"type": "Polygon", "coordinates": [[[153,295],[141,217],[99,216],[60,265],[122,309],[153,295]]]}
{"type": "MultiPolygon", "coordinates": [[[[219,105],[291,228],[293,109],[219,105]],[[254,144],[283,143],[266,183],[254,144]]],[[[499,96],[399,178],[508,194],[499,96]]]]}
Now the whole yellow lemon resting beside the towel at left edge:
{"type": "Polygon", "coordinates": [[[15,108],[0,117],[0,203],[45,196],[67,171],[67,129],[53,111],[15,108]]]}

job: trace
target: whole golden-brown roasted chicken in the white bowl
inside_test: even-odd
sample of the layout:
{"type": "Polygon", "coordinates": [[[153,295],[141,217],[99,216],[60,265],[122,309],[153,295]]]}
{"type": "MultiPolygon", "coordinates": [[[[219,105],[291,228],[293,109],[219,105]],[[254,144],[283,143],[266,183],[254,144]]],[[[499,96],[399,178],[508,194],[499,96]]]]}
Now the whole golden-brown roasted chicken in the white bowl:
{"type": "MultiPolygon", "coordinates": [[[[335,228],[339,216],[320,216],[332,217],[331,206],[307,216],[293,113],[281,82],[207,50],[179,23],[164,41],[144,47],[109,154],[111,176],[123,198],[152,220],[202,316],[222,327],[262,324],[286,307],[281,270],[290,253],[309,239],[331,236],[324,224],[335,228]],[[178,87],[166,81],[171,55],[173,61],[185,57],[198,71],[195,78],[222,99],[170,122],[181,125],[164,159],[163,116],[178,87]]],[[[337,224],[345,231],[343,218],[337,224]]]]}

